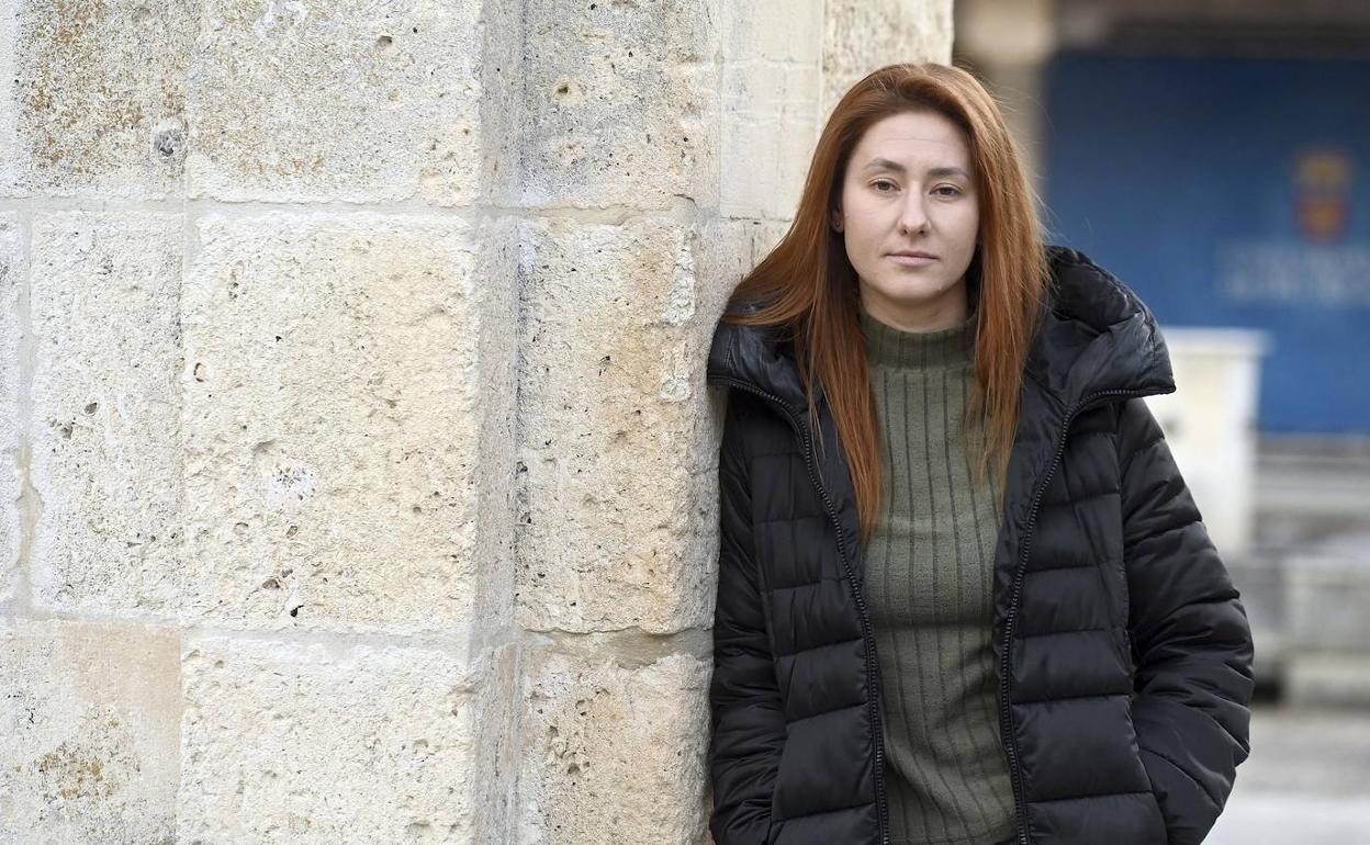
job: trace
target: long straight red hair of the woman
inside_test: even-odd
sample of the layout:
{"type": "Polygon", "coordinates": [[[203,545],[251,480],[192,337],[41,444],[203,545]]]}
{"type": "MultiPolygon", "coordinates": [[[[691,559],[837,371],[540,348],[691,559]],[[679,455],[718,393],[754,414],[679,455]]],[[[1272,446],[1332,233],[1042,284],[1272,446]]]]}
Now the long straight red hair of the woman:
{"type": "Polygon", "coordinates": [[[756,300],[764,307],[722,316],[736,325],[782,329],[793,344],[815,431],[815,378],[822,385],[856,492],[863,542],[881,507],[880,430],[859,322],[856,271],[829,215],[838,205],[848,160],[864,131],[884,118],[917,110],[936,111],[956,123],[970,149],[980,245],[966,282],[980,318],[975,386],[962,437],[967,455],[977,456],[981,482],[992,463],[999,478],[1006,475],[1028,348],[1047,301],[1051,273],[1037,216],[1038,197],[1025,177],[997,103],[969,71],[936,63],[891,64],[856,82],[823,126],[789,230],[729,300],[730,307],[756,300]]]}

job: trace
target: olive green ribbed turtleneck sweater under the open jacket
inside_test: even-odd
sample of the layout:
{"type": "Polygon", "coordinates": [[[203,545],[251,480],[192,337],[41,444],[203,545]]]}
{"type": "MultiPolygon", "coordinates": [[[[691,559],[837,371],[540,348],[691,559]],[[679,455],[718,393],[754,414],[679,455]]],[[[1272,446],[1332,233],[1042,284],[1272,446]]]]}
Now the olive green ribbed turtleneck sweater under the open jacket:
{"type": "Polygon", "coordinates": [[[958,436],[977,319],[919,333],[860,311],[884,460],[864,582],[893,845],[991,845],[1014,833],[991,646],[999,479],[974,483],[958,436]]]}

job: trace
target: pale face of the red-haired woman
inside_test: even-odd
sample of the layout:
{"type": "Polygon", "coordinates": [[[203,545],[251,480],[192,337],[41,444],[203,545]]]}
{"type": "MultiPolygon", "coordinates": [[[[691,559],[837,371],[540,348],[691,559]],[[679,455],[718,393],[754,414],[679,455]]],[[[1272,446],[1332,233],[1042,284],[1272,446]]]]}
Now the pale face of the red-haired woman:
{"type": "Polygon", "coordinates": [[[847,164],[833,225],[871,316],[915,331],[969,316],[966,268],[980,210],[959,126],[933,111],[912,111],[867,129],[847,164]],[[901,251],[932,259],[896,257],[901,251]]]}

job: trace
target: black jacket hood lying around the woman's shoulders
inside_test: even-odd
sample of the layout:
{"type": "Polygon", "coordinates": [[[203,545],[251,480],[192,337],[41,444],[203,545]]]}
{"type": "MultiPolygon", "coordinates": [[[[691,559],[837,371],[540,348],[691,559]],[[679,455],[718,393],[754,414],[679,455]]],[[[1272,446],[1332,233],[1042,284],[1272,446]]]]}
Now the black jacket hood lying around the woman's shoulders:
{"type": "MultiPolygon", "coordinates": [[[[1099,392],[1171,393],[1170,355],[1155,315],[1125,283],[1077,249],[1048,244],[1051,289],[1028,353],[1025,379],[1060,407],[1099,392]]],[[[741,311],[755,311],[748,304],[741,311]]],[[[807,405],[792,344],[775,326],[719,320],[708,353],[710,383],[744,382],[807,405]]],[[[818,385],[817,401],[821,401],[818,385]]]]}

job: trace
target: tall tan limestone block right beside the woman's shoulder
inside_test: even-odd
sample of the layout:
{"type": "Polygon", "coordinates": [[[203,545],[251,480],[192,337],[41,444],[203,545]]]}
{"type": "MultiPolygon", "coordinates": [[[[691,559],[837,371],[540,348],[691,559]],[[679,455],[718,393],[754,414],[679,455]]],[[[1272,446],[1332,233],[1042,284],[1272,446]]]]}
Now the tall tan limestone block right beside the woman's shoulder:
{"type": "Polygon", "coordinates": [[[523,627],[710,625],[719,429],[704,362],[723,300],[774,234],[662,218],[529,223],[523,627]]]}

